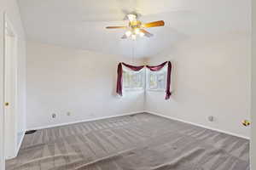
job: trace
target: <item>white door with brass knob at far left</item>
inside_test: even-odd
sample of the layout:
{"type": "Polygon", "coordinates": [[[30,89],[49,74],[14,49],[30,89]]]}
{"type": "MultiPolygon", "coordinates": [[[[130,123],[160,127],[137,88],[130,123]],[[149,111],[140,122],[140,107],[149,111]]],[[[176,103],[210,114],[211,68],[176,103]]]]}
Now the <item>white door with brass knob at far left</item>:
{"type": "Polygon", "coordinates": [[[4,113],[5,113],[5,157],[15,157],[17,147],[17,58],[16,37],[5,16],[4,33],[4,113]]]}

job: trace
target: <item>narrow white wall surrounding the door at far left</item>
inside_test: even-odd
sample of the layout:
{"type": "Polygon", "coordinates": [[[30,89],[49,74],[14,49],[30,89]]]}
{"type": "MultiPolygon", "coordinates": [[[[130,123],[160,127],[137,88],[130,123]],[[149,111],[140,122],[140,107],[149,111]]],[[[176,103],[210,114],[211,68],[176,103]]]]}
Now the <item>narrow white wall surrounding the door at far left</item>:
{"type": "MultiPolygon", "coordinates": [[[[0,157],[3,156],[3,13],[6,12],[9,16],[9,20],[15,27],[18,34],[18,57],[19,57],[19,114],[20,114],[20,130],[25,130],[25,95],[26,95],[26,75],[25,75],[25,64],[26,64],[26,52],[25,52],[25,35],[20,20],[20,11],[15,0],[1,0],[0,1],[0,157]]],[[[3,159],[0,159],[0,169],[3,168],[3,159]]]]}

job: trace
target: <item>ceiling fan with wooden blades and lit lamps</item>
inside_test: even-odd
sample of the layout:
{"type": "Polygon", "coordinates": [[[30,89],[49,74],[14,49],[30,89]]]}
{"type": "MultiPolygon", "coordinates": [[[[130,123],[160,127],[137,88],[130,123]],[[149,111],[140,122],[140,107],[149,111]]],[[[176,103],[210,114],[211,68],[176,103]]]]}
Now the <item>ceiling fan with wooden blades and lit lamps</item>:
{"type": "Polygon", "coordinates": [[[157,26],[165,26],[165,22],[163,20],[158,20],[154,22],[149,22],[143,24],[140,20],[137,20],[137,14],[127,14],[127,18],[129,20],[128,26],[107,26],[107,29],[126,29],[125,35],[121,37],[122,39],[126,39],[131,37],[132,40],[136,40],[137,36],[143,37],[152,37],[153,34],[146,31],[144,28],[157,27],[157,26]]]}

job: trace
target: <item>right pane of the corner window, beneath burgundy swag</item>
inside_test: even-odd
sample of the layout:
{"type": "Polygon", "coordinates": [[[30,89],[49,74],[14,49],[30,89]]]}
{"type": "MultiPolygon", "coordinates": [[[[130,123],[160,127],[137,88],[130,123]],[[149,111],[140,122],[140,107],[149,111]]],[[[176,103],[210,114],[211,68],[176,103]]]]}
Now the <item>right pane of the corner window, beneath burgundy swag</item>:
{"type": "Polygon", "coordinates": [[[167,69],[161,71],[147,71],[147,90],[165,91],[166,90],[167,69]]]}

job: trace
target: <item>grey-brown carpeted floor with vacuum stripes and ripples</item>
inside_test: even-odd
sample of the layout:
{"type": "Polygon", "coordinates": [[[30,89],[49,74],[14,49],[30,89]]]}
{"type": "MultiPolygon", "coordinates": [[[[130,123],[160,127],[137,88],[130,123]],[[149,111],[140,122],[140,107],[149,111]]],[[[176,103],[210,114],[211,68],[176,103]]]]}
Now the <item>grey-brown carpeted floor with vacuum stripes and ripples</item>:
{"type": "Polygon", "coordinates": [[[143,113],[27,134],[11,169],[248,170],[249,141],[143,113]]]}

